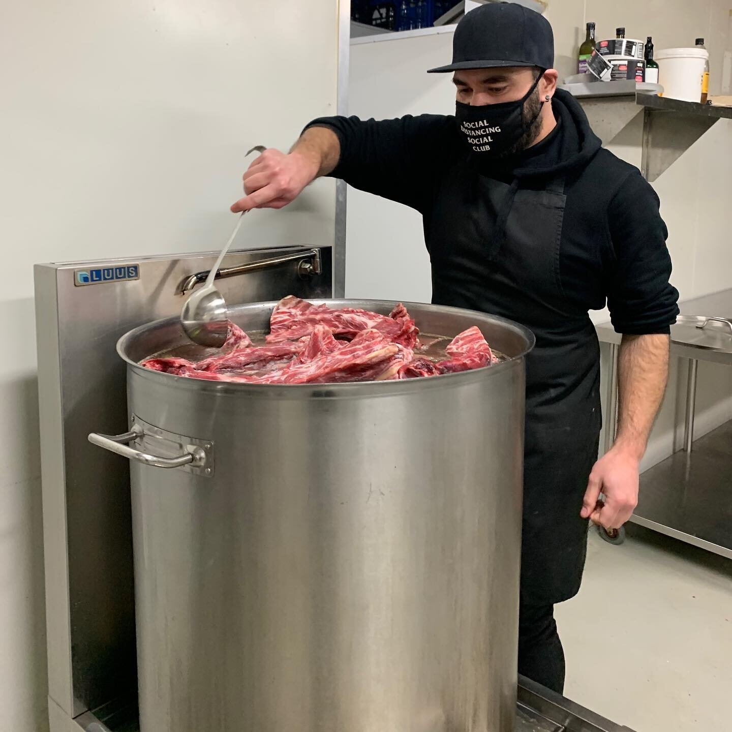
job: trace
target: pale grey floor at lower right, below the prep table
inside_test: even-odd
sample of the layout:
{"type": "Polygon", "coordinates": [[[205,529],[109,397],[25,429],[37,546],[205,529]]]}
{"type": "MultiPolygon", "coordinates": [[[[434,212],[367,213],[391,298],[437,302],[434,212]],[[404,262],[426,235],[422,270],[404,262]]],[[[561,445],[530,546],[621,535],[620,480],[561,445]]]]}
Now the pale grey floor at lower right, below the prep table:
{"type": "Polygon", "coordinates": [[[732,731],[732,560],[629,533],[591,531],[580,594],[557,608],[565,694],[636,732],[732,731]]]}

